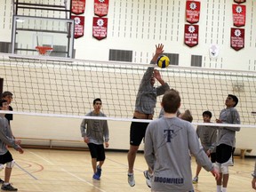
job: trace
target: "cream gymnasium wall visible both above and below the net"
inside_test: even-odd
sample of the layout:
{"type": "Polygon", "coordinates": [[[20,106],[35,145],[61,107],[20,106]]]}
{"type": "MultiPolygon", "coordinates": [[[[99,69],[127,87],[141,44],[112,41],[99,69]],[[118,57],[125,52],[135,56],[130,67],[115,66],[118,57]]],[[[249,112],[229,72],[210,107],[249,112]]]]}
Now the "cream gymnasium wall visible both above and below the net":
{"type": "MultiPolygon", "coordinates": [[[[44,3],[52,4],[52,0],[44,3]]],[[[92,37],[93,1],[86,1],[84,37],[75,40],[76,59],[108,60],[109,49],[131,50],[132,62],[149,63],[155,44],[164,44],[164,52],[178,53],[180,66],[189,67],[191,55],[202,55],[203,68],[256,69],[256,1],[247,0],[245,45],[236,52],[230,47],[230,28],[233,28],[231,0],[201,2],[199,44],[190,48],[184,44],[185,0],[110,0],[108,36],[103,40],[92,37]],[[210,59],[209,48],[217,44],[220,55],[210,59]]],[[[4,0],[0,7],[0,41],[11,42],[12,0],[4,0]]],[[[1,77],[1,72],[0,72],[1,77]]],[[[8,86],[4,84],[4,90],[8,86]]],[[[11,91],[12,90],[8,90],[11,91]]],[[[15,100],[13,101],[15,105],[15,100]]],[[[14,108],[15,109],[15,108],[14,108]]],[[[80,119],[15,115],[12,129],[17,137],[53,140],[82,140],[80,119]]],[[[130,123],[109,122],[110,148],[129,148],[130,123]]],[[[255,129],[244,128],[237,133],[236,146],[252,148],[256,155],[255,129]]],[[[29,141],[30,142],[30,141],[29,141]]],[[[31,142],[39,142],[31,141],[31,142]]],[[[40,141],[45,144],[45,140],[40,141]]],[[[58,143],[59,145],[60,143],[58,143]]],[[[61,143],[60,145],[65,145],[61,143]]],[[[84,143],[68,143],[84,146],[84,143]]],[[[143,146],[140,146],[142,149],[143,146]]]]}

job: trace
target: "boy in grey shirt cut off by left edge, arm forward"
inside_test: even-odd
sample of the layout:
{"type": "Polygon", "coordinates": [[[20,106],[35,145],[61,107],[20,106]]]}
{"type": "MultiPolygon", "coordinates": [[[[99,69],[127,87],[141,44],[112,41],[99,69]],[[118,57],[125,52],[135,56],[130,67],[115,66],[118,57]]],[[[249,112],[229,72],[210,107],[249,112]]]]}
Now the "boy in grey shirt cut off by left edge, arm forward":
{"type": "MultiPolygon", "coordinates": [[[[8,110],[7,100],[0,100],[0,110],[8,110]]],[[[12,167],[14,166],[14,160],[12,159],[12,154],[6,148],[6,146],[11,146],[15,150],[19,151],[20,154],[23,153],[23,149],[20,148],[21,140],[14,140],[12,138],[12,132],[8,120],[4,117],[5,114],[0,114],[0,171],[4,169],[4,180],[0,179],[3,183],[1,189],[6,191],[17,191],[17,188],[13,188],[10,183],[12,167]]]]}

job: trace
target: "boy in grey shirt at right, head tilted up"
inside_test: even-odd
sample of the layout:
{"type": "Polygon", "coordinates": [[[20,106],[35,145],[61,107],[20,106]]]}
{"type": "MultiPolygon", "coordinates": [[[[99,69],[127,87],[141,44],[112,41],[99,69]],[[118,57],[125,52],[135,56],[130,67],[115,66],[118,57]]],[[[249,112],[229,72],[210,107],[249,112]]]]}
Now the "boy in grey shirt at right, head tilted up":
{"type": "MultiPolygon", "coordinates": [[[[226,108],[220,111],[220,118],[216,119],[219,124],[240,124],[240,116],[236,110],[238,98],[236,95],[228,94],[225,101],[226,108]]],[[[216,165],[220,172],[220,179],[217,180],[217,192],[227,192],[228,187],[228,166],[233,165],[232,152],[236,140],[236,132],[240,127],[220,127],[216,147],[216,165]],[[221,188],[222,185],[222,188],[221,188]]]]}

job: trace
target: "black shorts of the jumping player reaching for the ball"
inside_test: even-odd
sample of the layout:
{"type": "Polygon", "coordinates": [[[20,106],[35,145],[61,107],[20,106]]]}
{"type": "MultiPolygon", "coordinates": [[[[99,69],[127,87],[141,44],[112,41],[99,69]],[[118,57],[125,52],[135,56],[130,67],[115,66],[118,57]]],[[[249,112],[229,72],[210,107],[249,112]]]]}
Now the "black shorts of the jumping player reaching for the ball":
{"type": "Polygon", "coordinates": [[[130,127],[130,145],[140,146],[141,140],[145,137],[148,124],[149,123],[132,122],[130,127]]]}

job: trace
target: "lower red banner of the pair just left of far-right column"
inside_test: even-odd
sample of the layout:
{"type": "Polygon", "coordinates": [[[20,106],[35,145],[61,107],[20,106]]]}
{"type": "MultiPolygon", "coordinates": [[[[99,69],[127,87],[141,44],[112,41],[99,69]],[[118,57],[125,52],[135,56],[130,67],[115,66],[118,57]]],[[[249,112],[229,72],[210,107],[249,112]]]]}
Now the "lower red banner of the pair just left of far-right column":
{"type": "Polygon", "coordinates": [[[187,44],[189,47],[196,46],[196,44],[198,44],[198,34],[198,25],[185,24],[184,43],[187,44]]]}

